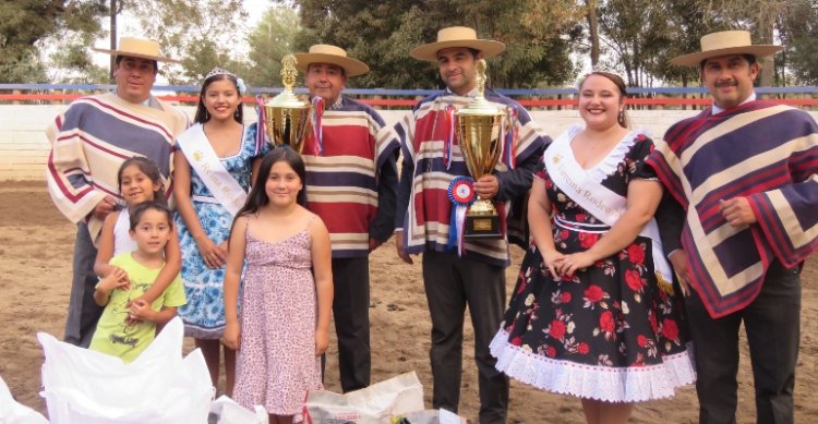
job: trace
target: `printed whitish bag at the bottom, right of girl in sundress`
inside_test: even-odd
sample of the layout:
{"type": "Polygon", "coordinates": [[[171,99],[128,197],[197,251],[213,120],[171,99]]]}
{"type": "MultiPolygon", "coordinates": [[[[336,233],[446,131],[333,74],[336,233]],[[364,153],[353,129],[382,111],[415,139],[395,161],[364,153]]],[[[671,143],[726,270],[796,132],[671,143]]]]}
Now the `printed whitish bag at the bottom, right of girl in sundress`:
{"type": "Polygon", "coordinates": [[[346,395],[311,391],[304,407],[304,422],[388,423],[394,415],[423,409],[423,386],[411,372],[346,395]]]}

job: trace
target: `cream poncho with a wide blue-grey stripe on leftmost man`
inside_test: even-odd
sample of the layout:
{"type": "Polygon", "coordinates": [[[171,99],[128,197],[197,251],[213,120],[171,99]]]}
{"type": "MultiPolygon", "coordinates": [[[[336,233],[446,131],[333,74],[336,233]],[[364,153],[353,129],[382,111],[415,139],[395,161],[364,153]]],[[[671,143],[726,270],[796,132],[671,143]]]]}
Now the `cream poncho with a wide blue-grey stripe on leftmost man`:
{"type": "Polygon", "coordinates": [[[154,97],[149,104],[134,105],[113,93],[82,97],[46,131],[51,199],[72,222],[86,220],[92,240],[103,222],[89,214],[105,196],[120,198],[117,173],[125,159],[139,155],[156,162],[171,194],[173,141],[188,118],[154,97]]]}

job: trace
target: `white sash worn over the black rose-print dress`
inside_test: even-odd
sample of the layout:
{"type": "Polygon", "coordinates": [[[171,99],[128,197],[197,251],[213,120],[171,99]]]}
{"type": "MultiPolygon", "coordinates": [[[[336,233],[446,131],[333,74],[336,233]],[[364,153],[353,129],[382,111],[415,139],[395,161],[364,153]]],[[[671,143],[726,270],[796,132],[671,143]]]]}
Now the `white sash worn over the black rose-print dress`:
{"type": "MultiPolygon", "coordinates": [[[[576,161],[570,149],[570,141],[581,130],[581,126],[574,125],[551,143],[544,155],[545,169],[549,172],[551,181],[567,194],[572,201],[609,227],[613,227],[627,209],[627,198],[612,192],[602,185],[601,181],[591,178],[589,172],[584,170],[576,161]]],[[[641,134],[639,131],[628,133],[614,147],[612,154],[630,148],[639,134],[641,134]]],[[[652,241],[653,265],[657,270],[657,277],[664,279],[664,281],[661,281],[660,278],[660,282],[669,283],[673,281],[671,266],[662,251],[662,241],[659,238],[657,220],[651,218],[641,232],[639,232],[639,235],[647,237],[652,241]]]]}

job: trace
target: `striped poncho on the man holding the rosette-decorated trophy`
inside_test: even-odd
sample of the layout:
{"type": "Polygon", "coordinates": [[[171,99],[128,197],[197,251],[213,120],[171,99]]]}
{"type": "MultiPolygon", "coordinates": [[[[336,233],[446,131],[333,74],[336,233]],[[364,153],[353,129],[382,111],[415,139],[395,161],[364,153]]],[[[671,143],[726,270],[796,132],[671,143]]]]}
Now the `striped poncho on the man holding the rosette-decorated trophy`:
{"type": "MultiPolygon", "coordinates": [[[[494,173],[500,181],[495,201],[501,209],[509,213],[510,201],[520,198],[531,187],[533,170],[551,138],[543,135],[540,126],[516,101],[488,93],[486,99],[503,108],[510,106],[517,111],[516,168],[509,170],[507,163],[501,160],[494,173]]],[[[471,101],[472,97],[456,96],[449,92],[432,95],[421,100],[412,113],[396,124],[404,154],[396,227],[402,228],[402,243],[407,253],[418,254],[426,249],[437,252],[449,250],[452,202],[447,190],[453,179],[469,175],[469,170],[457,140],[452,146],[450,166],[446,168],[445,141],[450,133],[450,125],[446,124],[446,109],[449,105],[459,109],[471,101]]],[[[502,214],[503,210],[498,211],[502,214]]],[[[509,264],[508,241],[505,239],[466,240],[464,251],[465,255],[490,264],[509,264]]]]}

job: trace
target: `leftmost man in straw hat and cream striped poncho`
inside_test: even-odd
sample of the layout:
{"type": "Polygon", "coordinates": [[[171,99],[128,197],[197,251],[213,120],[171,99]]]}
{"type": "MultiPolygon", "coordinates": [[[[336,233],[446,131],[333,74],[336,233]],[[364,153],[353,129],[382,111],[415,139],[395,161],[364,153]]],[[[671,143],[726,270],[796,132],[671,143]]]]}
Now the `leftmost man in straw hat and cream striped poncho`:
{"type": "MultiPolygon", "coordinates": [[[[170,196],[171,147],[188,125],[181,111],[151,96],[157,62],[173,61],[159,54],[157,43],[122,37],[118,50],[95,50],[116,54],[117,89],[74,100],[46,131],[51,142],[47,166],[51,199],[77,225],[64,340],[82,347],[91,342],[101,313],[94,302],[98,282],[94,245],[105,217],[121,202],[119,167],[136,155],[152,159],[170,196]]],[[[167,272],[179,272],[178,267],[169,268],[173,267],[166,267],[167,272]]]]}

